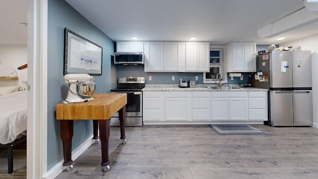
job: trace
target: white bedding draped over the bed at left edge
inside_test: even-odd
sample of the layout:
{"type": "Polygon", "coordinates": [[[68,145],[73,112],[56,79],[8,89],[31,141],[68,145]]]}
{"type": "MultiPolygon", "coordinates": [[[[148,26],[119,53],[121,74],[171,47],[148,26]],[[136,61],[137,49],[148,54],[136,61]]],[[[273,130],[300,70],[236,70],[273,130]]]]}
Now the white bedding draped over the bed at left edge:
{"type": "Polygon", "coordinates": [[[0,96],[0,143],[13,142],[26,126],[27,90],[0,96]]]}

